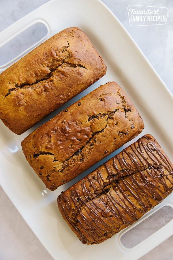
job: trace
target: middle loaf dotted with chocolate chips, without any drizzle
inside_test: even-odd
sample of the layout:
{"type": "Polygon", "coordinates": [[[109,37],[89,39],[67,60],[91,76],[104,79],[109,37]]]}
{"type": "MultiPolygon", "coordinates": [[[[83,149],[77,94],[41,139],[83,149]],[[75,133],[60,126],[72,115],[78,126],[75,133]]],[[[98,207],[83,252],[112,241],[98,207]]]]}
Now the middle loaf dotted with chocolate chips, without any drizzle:
{"type": "Polygon", "coordinates": [[[109,82],[33,131],[21,145],[46,187],[55,190],[143,128],[131,100],[117,83],[109,82]]]}

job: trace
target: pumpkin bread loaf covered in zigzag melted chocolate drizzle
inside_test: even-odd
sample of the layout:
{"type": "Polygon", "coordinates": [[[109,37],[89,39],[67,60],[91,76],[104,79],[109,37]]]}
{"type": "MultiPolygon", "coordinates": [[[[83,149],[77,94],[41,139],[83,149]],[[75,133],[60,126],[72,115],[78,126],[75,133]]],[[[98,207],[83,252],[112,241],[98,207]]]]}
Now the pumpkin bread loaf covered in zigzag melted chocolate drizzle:
{"type": "Polygon", "coordinates": [[[129,226],[172,192],[173,165],[144,135],[58,197],[58,207],[84,244],[129,226]]]}

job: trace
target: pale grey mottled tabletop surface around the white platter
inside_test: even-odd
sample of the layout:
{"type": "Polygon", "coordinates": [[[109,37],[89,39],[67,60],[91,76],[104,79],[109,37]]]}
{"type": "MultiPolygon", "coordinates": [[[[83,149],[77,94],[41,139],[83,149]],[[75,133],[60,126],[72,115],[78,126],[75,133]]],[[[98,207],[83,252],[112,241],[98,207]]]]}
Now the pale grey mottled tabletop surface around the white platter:
{"type": "MultiPolygon", "coordinates": [[[[170,0],[102,1],[127,29],[166,86],[173,93],[173,2],[170,0]],[[129,24],[127,13],[128,5],[167,7],[169,10],[167,23],[158,26],[132,27],[129,24]]],[[[46,2],[47,0],[1,0],[0,31],[46,2]]],[[[0,62],[3,62],[3,59],[5,59],[5,56],[0,55],[0,62]]],[[[0,260],[52,260],[52,257],[35,237],[1,187],[0,198],[0,260]]],[[[163,212],[163,218],[157,215],[155,221],[164,224],[166,221],[164,213],[167,217],[172,217],[172,211],[165,211],[163,212]]],[[[148,225],[149,229],[154,229],[153,222],[148,225]]],[[[144,229],[143,232],[145,233],[147,230],[144,229]]],[[[173,236],[140,259],[171,260],[173,259],[172,244],[173,236]]]]}

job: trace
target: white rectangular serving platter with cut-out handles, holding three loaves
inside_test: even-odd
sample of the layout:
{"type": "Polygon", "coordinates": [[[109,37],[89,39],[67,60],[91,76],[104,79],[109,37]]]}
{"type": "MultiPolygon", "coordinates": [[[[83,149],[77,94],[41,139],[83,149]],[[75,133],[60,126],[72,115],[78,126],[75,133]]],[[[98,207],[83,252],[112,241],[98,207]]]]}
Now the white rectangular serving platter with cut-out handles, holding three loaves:
{"type": "MultiPolygon", "coordinates": [[[[56,260],[74,259],[138,259],[173,234],[173,220],[153,235],[134,246],[125,248],[121,236],[163,206],[173,208],[173,194],[149,211],[138,222],[99,245],[83,245],[62,219],[57,196],[73,183],[101,165],[140,136],[150,133],[173,161],[173,96],[147,61],[131,36],[112,12],[99,0],[51,0],[0,33],[0,47],[35,23],[43,23],[50,38],[67,27],[78,26],[89,37],[107,65],[107,73],[91,87],[57,109],[35,127],[18,136],[0,122],[0,185],[18,209],[32,231],[56,260]],[[36,127],[82,96],[108,81],[116,81],[125,90],[144,120],[144,131],[95,166],[51,192],[27,163],[21,141],[36,127]]],[[[24,51],[8,64],[0,66],[0,73],[33,49],[24,51]]]]}

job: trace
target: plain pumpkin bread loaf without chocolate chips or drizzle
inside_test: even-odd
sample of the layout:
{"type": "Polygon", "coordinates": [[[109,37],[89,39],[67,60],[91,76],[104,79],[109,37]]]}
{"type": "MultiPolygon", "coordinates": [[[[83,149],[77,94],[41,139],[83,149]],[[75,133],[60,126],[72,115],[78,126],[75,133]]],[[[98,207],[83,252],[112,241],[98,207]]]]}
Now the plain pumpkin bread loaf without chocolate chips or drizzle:
{"type": "Polygon", "coordinates": [[[87,36],[67,28],[1,73],[0,118],[21,134],[105,73],[87,36]]]}

